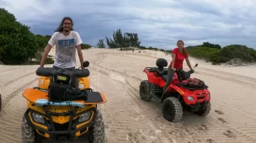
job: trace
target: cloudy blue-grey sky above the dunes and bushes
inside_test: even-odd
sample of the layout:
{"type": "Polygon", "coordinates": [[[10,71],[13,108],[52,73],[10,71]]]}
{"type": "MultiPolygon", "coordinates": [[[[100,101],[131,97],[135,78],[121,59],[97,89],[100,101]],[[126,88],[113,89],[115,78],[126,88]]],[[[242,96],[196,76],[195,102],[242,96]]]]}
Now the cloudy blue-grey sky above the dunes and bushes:
{"type": "Polygon", "coordinates": [[[256,49],[255,6],[256,0],[0,0],[34,34],[53,34],[69,16],[83,43],[95,46],[121,29],[138,34],[143,46],[165,50],[177,40],[256,49]]]}

